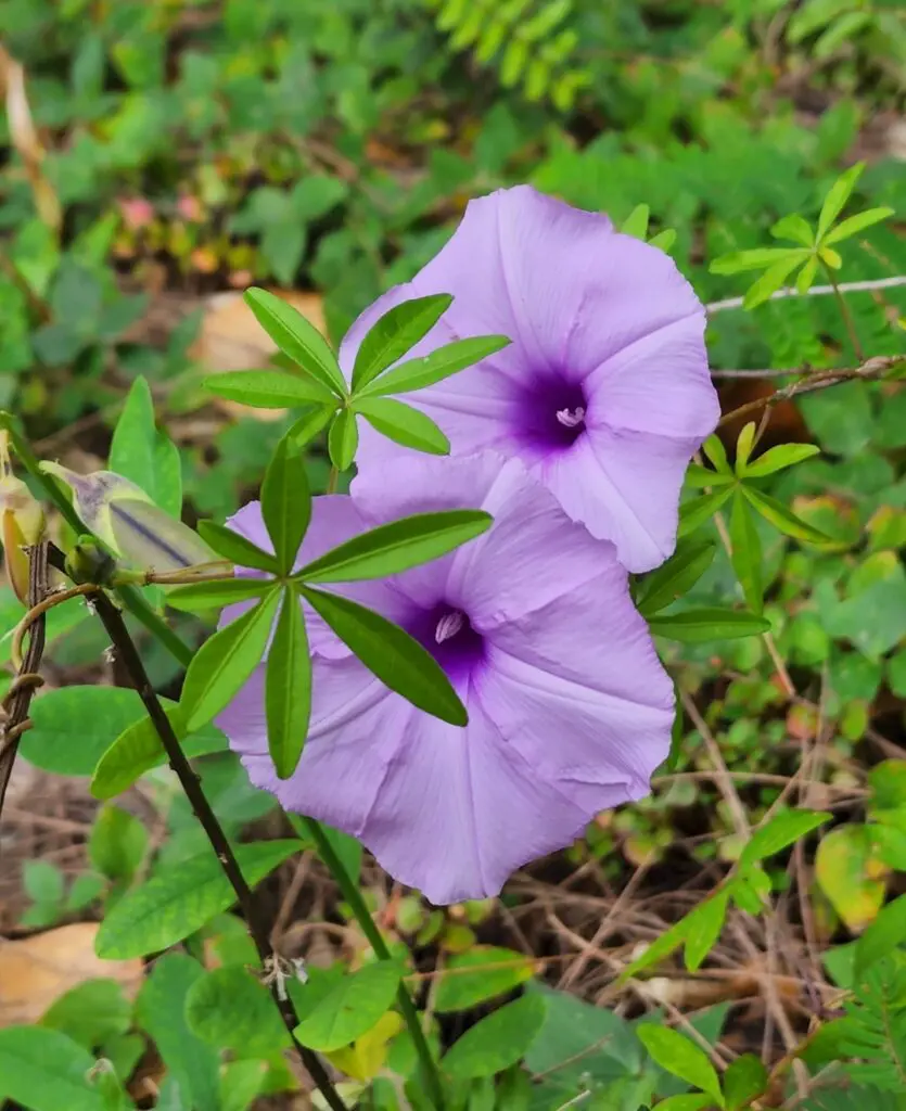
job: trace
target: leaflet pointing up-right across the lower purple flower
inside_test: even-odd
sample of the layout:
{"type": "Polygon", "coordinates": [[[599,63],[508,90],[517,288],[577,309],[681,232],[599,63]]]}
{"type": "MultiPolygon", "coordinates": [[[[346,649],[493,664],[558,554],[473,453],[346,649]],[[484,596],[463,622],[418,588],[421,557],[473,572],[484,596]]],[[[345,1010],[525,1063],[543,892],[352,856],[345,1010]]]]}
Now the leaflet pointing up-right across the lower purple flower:
{"type": "Polygon", "coordinates": [[[487,532],[494,518],[480,509],[416,513],[364,532],[303,567],[303,582],[382,579],[446,556],[487,532]]]}

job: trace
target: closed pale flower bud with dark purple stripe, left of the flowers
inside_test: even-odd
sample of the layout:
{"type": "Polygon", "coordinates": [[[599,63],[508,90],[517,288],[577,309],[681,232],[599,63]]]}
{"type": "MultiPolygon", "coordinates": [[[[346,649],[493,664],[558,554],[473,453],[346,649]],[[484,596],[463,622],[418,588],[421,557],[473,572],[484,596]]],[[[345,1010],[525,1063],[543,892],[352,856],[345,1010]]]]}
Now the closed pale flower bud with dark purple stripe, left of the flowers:
{"type": "Polygon", "coordinates": [[[219,558],[188,524],[170,517],[120,474],[77,474],[59,463],[41,463],[41,470],[70,488],[76,512],[86,526],[132,567],[181,571],[219,558]]]}

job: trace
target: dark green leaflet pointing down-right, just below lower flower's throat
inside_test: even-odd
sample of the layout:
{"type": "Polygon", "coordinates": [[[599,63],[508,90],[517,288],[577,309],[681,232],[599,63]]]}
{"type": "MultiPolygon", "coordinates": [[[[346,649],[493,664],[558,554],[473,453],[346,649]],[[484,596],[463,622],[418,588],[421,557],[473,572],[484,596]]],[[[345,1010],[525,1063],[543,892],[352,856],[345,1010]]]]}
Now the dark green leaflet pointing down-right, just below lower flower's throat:
{"type": "Polygon", "coordinates": [[[338,594],[310,587],[300,592],[340,640],[385,685],[412,705],[452,725],[468,721],[466,708],[440,664],[398,625],[338,594]]]}

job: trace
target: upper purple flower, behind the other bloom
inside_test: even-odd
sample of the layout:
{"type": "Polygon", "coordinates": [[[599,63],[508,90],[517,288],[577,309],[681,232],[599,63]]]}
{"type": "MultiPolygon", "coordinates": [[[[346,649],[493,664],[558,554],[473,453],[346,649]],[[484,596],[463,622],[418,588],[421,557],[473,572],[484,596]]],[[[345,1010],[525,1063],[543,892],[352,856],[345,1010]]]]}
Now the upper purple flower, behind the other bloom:
{"type": "MultiPolygon", "coordinates": [[[[705,311],[673,260],[604,216],[528,186],[500,190],[471,201],[440,253],[356,321],[340,349],[346,373],[378,317],[429,293],[455,300],[407,359],[469,336],[512,340],[406,397],[452,454],[518,457],[630,571],[670,556],[683,474],[719,416],[705,311]]],[[[408,451],[362,433],[366,474],[408,451]]]]}

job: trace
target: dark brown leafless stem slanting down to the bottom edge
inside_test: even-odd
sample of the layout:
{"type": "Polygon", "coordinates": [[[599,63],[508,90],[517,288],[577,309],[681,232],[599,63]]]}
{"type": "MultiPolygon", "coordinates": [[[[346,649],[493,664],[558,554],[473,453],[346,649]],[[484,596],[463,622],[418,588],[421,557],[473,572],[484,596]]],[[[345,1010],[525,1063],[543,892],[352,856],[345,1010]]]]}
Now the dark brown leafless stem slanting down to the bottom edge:
{"type": "MultiPolygon", "coordinates": [[[[57,554],[61,556],[62,553],[57,554]]],[[[205,797],[205,792],[201,789],[201,782],[198,775],[192,771],[192,767],[189,763],[186,753],[182,751],[176,733],[173,732],[170,719],[165,713],[163,707],[158,700],[157,693],[155,692],[151,681],[148,678],[148,673],[145,670],[141,657],[139,655],[132,638],[129,634],[129,630],[126,628],[126,622],[122,620],[122,614],[102,590],[98,591],[94,598],[94,607],[98,611],[98,617],[100,618],[100,621],[107,630],[107,634],[116,649],[117,658],[126,669],[127,674],[138,691],[139,698],[145,704],[145,709],[148,711],[148,717],[151,719],[163,749],[167,752],[167,759],[170,767],[179,779],[182,790],[186,792],[186,797],[191,804],[192,811],[201,823],[205,833],[211,843],[211,848],[217,853],[217,859],[220,861],[220,865],[229,880],[230,887],[236,892],[237,901],[242,910],[249,933],[255,942],[255,948],[258,950],[258,955],[261,958],[261,963],[266,970],[276,968],[279,958],[270,945],[270,931],[268,929],[268,924],[261,915],[251,888],[248,885],[246,878],[242,875],[239,862],[232,851],[232,847],[230,845],[220,822],[217,820],[210,803],[205,797]]],[[[331,1108],[331,1111],[347,1111],[346,1104],[337,1094],[333,1082],[317,1054],[296,1041],[293,1030],[299,1024],[299,1018],[296,1013],[296,1008],[293,1007],[292,1001],[288,997],[282,998],[285,993],[279,990],[277,978],[268,978],[268,980],[270,981],[270,992],[280,1012],[280,1018],[283,1020],[283,1025],[289,1031],[289,1035],[292,1039],[292,1043],[297,1049],[302,1064],[310,1073],[311,1079],[315,1081],[318,1089],[321,1091],[321,1094],[327,1101],[328,1107],[331,1108]]]]}

